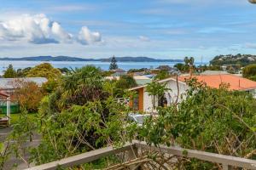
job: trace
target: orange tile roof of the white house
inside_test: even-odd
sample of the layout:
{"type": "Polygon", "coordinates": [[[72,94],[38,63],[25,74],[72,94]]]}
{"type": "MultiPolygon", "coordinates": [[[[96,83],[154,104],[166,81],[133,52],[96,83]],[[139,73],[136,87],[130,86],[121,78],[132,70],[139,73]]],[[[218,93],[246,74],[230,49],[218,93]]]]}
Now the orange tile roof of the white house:
{"type": "MultiPolygon", "coordinates": [[[[256,82],[248,80],[247,78],[237,77],[234,75],[203,75],[203,76],[193,76],[198,82],[205,82],[208,87],[219,88],[221,83],[226,83],[230,85],[230,90],[248,90],[256,89],[256,82]]],[[[178,80],[184,82],[190,77],[178,77],[178,80]]]]}

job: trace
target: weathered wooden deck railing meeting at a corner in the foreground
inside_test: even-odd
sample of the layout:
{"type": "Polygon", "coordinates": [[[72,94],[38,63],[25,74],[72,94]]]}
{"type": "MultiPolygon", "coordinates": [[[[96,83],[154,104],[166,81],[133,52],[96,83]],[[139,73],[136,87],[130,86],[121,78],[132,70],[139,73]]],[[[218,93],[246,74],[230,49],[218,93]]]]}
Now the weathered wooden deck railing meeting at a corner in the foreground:
{"type": "MultiPolygon", "coordinates": [[[[133,141],[132,144],[125,144],[121,148],[113,148],[112,146],[102,148],[99,150],[92,150],[84,154],[77,156],[71,156],[60,161],[52,161],[37,167],[28,168],[30,170],[51,170],[57,167],[73,167],[80,164],[88,163],[90,161],[96,161],[97,159],[118,154],[123,151],[134,152],[134,150],[155,150],[161,151],[162,153],[174,155],[174,156],[186,156],[189,158],[196,158],[201,161],[211,161],[214,163],[222,164],[224,170],[231,169],[232,167],[242,167],[247,169],[256,169],[256,161],[235,157],[235,156],[224,156],[214,153],[209,153],[199,150],[186,150],[177,146],[167,147],[166,145],[160,145],[160,147],[148,146],[145,142],[133,141]],[[184,153],[186,153],[184,155],[184,153]]],[[[132,155],[132,154],[131,154],[132,155]]],[[[28,170],[27,169],[27,170],[28,170]]]]}

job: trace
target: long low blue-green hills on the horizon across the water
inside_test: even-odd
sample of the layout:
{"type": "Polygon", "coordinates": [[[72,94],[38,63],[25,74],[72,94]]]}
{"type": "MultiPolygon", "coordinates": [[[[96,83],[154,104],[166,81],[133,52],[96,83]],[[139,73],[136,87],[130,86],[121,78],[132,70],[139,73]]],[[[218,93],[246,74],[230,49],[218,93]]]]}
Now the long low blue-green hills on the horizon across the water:
{"type": "MultiPolygon", "coordinates": [[[[108,59],[82,59],[78,57],[68,56],[36,56],[36,57],[20,57],[20,58],[0,58],[0,60],[14,60],[14,61],[102,61],[110,62],[112,58],[108,59]]],[[[116,57],[119,62],[183,62],[183,59],[152,59],[148,57],[116,57]]]]}

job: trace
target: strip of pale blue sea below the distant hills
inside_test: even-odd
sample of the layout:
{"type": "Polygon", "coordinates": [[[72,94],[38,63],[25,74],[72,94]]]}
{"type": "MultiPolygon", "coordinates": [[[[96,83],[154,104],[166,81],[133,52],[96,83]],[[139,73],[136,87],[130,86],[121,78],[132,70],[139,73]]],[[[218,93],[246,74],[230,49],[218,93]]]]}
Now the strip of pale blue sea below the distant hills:
{"type": "MultiPolygon", "coordinates": [[[[13,65],[15,69],[24,69],[26,67],[33,67],[35,65],[39,65],[41,63],[50,63],[55,68],[81,68],[85,65],[95,65],[96,67],[100,67],[104,71],[108,71],[109,62],[101,62],[101,61],[1,61],[0,60],[0,72],[3,74],[3,71],[9,65],[13,65]]],[[[177,64],[177,62],[118,62],[119,68],[128,71],[130,69],[140,69],[140,68],[156,68],[159,65],[170,65],[173,66],[177,64]]],[[[202,63],[207,64],[207,63],[202,63]]],[[[195,63],[195,65],[201,65],[201,63],[195,63]]]]}

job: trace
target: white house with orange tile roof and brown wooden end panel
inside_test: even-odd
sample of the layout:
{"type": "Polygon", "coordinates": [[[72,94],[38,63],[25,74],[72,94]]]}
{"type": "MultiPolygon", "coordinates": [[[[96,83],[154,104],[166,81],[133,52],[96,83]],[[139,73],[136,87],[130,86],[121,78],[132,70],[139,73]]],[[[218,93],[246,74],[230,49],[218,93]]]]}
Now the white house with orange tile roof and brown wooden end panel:
{"type": "MultiPolygon", "coordinates": [[[[256,82],[248,80],[242,77],[236,77],[231,74],[226,75],[201,75],[194,76],[198,82],[205,82],[210,88],[219,88],[220,84],[229,84],[229,90],[246,91],[253,94],[256,98],[256,82]]],[[[186,80],[190,77],[171,77],[165,80],[161,80],[160,83],[166,83],[166,88],[172,90],[166,91],[166,94],[156,101],[156,106],[171,105],[173,102],[180,102],[182,95],[185,94],[189,86],[186,84],[186,80]],[[177,88],[178,87],[178,88],[177,88]]],[[[137,92],[137,98],[132,99],[131,106],[137,111],[151,111],[153,108],[152,96],[148,95],[146,91],[147,85],[131,88],[131,91],[137,92]]]]}

